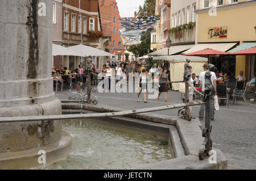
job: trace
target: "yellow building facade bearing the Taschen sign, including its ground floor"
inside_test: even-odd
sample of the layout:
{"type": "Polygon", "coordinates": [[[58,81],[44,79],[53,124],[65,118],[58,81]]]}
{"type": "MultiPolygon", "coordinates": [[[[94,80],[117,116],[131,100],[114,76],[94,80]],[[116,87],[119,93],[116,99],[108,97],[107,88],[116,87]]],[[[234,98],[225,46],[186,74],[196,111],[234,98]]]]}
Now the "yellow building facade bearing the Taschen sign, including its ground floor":
{"type": "MultiPolygon", "coordinates": [[[[196,9],[197,47],[233,52],[255,46],[255,0],[197,0],[196,9]]],[[[247,81],[256,71],[255,56],[213,56],[210,62],[236,76],[242,70],[247,81]]]]}

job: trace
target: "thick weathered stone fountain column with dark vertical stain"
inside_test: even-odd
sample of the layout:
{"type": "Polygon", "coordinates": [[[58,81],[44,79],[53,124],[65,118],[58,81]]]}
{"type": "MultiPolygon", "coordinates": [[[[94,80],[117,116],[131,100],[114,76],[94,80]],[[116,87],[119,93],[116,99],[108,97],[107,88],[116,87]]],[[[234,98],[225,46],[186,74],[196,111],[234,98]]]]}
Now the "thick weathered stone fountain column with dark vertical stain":
{"type": "MultiPolygon", "coordinates": [[[[0,1],[0,117],[61,115],[51,77],[52,1],[0,1]]],[[[0,169],[39,166],[64,159],[72,138],[62,121],[2,123],[0,169]]]]}

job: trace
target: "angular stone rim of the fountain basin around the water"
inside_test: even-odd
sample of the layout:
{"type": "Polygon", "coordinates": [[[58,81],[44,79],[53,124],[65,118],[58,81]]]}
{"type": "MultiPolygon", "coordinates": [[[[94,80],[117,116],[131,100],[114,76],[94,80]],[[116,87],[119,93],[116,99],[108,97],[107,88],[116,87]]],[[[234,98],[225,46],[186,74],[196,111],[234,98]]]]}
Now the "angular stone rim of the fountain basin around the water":
{"type": "MultiPolygon", "coordinates": [[[[62,104],[62,110],[63,112],[69,112],[71,110],[84,110],[94,112],[124,111],[114,107],[87,104],[81,105],[77,103],[64,103],[62,104]]],[[[172,125],[175,127],[169,132],[170,144],[174,156],[173,159],[157,163],[133,166],[130,169],[227,169],[228,160],[224,154],[216,148],[213,148],[213,150],[216,151],[216,162],[210,162],[208,158],[205,158],[203,161],[199,160],[199,149],[204,141],[204,137],[202,137],[203,126],[199,120],[194,119],[192,121],[187,121],[174,116],[172,117],[159,115],[156,113],[139,113],[126,117],[134,118],[139,121],[146,121],[147,123],[160,123],[164,125],[172,125]]]]}

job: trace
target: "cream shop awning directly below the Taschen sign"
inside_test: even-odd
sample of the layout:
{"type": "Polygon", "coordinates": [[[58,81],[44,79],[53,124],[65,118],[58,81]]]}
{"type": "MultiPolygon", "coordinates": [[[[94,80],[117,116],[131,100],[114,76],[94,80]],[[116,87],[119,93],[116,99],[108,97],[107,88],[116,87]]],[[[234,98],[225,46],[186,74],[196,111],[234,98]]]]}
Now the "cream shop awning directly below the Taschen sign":
{"type": "Polygon", "coordinates": [[[192,47],[191,49],[183,52],[182,54],[192,53],[199,50],[211,48],[214,50],[220,50],[222,52],[226,52],[226,50],[229,50],[230,48],[234,47],[237,43],[200,43],[192,47]]]}

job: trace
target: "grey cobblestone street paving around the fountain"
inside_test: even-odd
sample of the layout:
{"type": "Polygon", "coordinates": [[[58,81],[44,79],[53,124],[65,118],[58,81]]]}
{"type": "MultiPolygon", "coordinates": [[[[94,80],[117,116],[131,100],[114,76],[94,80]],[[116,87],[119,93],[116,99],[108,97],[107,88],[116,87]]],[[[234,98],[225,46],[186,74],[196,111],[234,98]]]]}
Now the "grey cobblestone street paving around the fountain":
{"type": "MultiPolygon", "coordinates": [[[[60,100],[68,99],[69,90],[57,91],[56,96],[60,100]]],[[[137,103],[136,93],[99,93],[95,92],[98,104],[115,108],[139,109],[147,107],[164,106],[167,104],[181,103],[180,92],[169,91],[169,103],[164,102],[164,95],[160,95],[160,101],[149,99],[148,103],[137,103]]],[[[192,116],[198,117],[200,106],[192,108],[192,116]]],[[[177,110],[158,111],[162,115],[177,116],[177,110]]],[[[228,169],[256,169],[256,106],[247,106],[242,100],[229,106],[220,106],[215,112],[216,121],[212,121],[213,147],[220,149],[228,158],[228,169]]],[[[204,125],[204,121],[201,121],[204,125]]]]}

